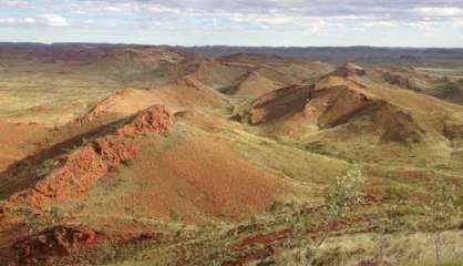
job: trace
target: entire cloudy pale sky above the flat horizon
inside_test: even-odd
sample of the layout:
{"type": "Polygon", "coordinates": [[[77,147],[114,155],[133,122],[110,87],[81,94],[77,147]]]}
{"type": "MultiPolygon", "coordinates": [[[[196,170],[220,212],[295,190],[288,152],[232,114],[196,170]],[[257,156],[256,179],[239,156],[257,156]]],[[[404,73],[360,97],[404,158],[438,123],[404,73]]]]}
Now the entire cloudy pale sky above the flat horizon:
{"type": "Polygon", "coordinates": [[[463,0],[0,0],[0,41],[463,48],[463,0]]]}

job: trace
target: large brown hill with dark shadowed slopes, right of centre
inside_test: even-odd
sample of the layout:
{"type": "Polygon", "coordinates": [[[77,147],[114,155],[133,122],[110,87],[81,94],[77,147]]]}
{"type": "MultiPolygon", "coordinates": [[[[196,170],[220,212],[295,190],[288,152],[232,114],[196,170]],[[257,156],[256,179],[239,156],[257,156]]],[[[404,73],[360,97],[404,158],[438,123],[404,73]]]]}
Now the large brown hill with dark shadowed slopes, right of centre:
{"type": "Polygon", "coordinates": [[[409,91],[382,88],[359,75],[347,79],[337,74],[320,79],[313,86],[289,86],[263,95],[241,116],[250,124],[278,120],[282,127],[275,129],[281,132],[301,123],[332,127],[367,115],[380,127],[382,141],[414,142],[422,141],[423,134],[442,134],[443,120],[455,116],[454,108],[409,91]],[[440,111],[424,119],[431,106],[440,111]]]}

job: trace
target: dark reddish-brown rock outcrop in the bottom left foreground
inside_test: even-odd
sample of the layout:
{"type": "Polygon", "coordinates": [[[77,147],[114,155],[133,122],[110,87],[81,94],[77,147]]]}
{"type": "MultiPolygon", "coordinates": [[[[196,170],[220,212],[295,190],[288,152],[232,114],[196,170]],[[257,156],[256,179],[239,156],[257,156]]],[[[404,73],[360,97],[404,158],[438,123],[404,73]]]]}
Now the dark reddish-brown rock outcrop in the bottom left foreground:
{"type": "Polygon", "coordinates": [[[69,256],[97,244],[99,234],[84,226],[58,225],[47,228],[33,237],[17,242],[20,265],[37,265],[52,257],[69,256]]]}

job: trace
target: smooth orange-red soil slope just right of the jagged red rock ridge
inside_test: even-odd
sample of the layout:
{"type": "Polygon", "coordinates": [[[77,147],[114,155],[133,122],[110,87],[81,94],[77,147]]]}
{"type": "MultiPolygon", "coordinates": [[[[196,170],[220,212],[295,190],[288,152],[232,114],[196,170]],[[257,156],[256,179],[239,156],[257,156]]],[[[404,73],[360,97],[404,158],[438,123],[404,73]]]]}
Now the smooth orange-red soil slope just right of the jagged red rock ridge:
{"type": "Polygon", "coordinates": [[[156,219],[175,211],[185,223],[208,217],[239,219],[264,212],[286,184],[239,158],[226,143],[191,140],[136,161],[131,178],[143,186],[111,205],[156,219]]]}

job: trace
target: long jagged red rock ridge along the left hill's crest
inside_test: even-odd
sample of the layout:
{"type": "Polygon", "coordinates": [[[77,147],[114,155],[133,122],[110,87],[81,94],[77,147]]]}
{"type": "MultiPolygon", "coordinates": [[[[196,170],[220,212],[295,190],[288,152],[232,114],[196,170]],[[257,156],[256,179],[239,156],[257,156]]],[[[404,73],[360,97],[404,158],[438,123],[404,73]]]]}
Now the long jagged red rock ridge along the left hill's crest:
{"type": "Polygon", "coordinates": [[[49,174],[33,187],[13,194],[9,200],[41,207],[50,201],[84,197],[100,178],[121,163],[136,157],[143,143],[134,135],[164,135],[172,124],[171,113],[162,105],[142,111],[115,132],[56,158],[49,174]]]}

